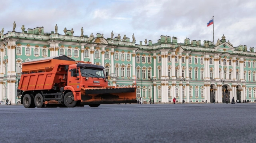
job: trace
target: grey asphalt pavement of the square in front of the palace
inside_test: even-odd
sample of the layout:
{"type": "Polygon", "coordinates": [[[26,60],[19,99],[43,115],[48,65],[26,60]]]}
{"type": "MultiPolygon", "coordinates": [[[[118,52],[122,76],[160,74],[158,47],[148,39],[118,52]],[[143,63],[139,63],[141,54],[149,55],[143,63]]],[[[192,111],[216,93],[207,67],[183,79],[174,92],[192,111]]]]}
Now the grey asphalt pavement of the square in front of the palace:
{"type": "Polygon", "coordinates": [[[255,143],[256,104],[0,106],[0,143],[255,143]]]}

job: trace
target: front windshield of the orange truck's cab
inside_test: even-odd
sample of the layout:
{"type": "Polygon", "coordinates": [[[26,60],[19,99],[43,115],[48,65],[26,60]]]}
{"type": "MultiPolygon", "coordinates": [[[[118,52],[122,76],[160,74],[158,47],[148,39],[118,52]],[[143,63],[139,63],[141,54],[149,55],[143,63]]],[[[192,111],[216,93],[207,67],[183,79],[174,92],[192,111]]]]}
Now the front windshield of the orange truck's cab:
{"type": "Polygon", "coordinates": [[[97,78],[106,78],[104,71],[102,69],[95,69],[87,67],[86,69],[80,68],[81,76],[83,77],[97,77],[97,78]]]}

